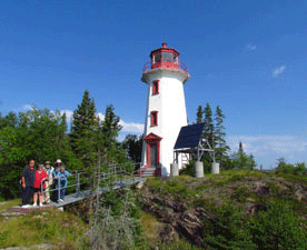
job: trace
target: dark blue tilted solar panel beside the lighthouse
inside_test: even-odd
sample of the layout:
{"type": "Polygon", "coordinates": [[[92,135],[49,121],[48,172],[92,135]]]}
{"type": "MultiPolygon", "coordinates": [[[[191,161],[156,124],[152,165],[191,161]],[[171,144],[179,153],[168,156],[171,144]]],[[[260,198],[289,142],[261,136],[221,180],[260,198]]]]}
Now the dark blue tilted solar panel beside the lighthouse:
{"type": "Polygon", "coordinates": [[[181,127],[174,149],[196,148],[201,139],[205,123],[181,127]]]}

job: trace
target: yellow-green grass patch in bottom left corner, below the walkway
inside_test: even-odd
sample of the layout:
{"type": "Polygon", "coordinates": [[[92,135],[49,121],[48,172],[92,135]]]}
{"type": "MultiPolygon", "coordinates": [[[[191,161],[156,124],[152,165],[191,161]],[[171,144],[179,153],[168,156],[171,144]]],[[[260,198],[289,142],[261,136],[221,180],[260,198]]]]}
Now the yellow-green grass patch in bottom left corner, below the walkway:
{"type": "Polygon", "coordinates": [[[23,217],[0,221],[0,247],[50,243],[77,249],[86,230],[87,226],[72,214],[57,209],[34,210],[23,217]]]}

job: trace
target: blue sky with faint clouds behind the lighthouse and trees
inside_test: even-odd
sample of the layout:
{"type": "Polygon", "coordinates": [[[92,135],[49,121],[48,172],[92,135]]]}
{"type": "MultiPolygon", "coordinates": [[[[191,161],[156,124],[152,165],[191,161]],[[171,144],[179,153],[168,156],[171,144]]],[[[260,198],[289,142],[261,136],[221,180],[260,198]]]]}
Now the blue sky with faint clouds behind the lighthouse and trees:
{"type": "Polygon", "coordinates": [[[33,1],[0,3],[0,111],[71,113],[86,89],[113,104],[121,138],[141,133],[151,50],[167,42],[191,78],[189,121],[220,106],[227,141],[258,166],[307,160],[306,1],[33,1]]]}

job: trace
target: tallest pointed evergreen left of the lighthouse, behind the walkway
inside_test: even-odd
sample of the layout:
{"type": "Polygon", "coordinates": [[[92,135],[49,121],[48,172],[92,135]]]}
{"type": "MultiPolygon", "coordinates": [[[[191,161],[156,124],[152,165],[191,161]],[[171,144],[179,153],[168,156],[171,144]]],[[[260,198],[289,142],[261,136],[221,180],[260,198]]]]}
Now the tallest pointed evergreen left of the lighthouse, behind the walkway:
{"type": "Polygon", "coordinates": [[[73,111],[70,132],[72,150],[86,169],[96,163],[98,133],[99,120],[96,116],[95,102],[89,98],[89,91],[86,90],[81,104],[78,104],[77,110],[73,111]]]}

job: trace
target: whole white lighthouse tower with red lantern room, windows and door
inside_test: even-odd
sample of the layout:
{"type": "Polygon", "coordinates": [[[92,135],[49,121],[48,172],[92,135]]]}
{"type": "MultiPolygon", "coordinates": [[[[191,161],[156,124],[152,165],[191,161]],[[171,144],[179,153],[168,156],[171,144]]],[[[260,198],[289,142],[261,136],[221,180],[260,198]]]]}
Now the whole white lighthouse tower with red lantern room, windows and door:
{"type": "MultiPolygon", "coordinates": [[[[188,124],[184,84],[190,76],[179,52],[167,43],[152,50],[150,59],[141,78],[148,84],[142,166],[156,176],[168,176],[178,133],[188,124]]],[[[179,159],[179,169],[181,164],[179,159]]]]}

